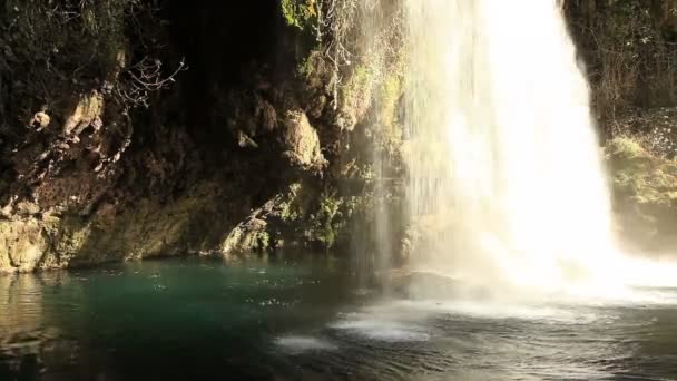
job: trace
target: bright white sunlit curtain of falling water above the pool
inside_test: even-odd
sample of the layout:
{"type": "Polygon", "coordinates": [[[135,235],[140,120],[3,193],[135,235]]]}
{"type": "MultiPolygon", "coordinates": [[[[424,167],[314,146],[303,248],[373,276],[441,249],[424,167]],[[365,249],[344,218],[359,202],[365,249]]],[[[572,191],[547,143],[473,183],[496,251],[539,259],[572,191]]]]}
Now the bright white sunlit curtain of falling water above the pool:
{"type": "Polygon", "coordinates": [[[589,88],[556,0],[405,3],[408,196],[426,236],[412,266],[494,291],[624,284],[589,88]]]}

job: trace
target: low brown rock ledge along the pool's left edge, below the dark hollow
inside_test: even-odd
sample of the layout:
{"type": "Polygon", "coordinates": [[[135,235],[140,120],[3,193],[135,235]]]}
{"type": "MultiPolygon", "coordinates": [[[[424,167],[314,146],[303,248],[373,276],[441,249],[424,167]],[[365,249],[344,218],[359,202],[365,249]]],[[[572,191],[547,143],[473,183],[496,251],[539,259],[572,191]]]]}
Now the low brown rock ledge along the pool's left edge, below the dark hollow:
{"type": "Polygon", "coordinates": [[[0,272],[30,272],[154,256],[214,253],[241,216],[218,183],[202,183],[171,202],[0,221],[0,272]]]}

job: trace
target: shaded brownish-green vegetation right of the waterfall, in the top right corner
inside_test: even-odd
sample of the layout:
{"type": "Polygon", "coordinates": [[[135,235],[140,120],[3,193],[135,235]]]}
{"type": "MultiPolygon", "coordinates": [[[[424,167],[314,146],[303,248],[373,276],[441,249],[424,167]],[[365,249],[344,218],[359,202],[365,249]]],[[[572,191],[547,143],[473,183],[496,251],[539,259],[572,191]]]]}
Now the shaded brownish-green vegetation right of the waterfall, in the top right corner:
{"type": "Polygon", "coordinates": [[[637,108],[677,101],[677,2],[582,0],[565,4],[604,121],[637,108]]]}

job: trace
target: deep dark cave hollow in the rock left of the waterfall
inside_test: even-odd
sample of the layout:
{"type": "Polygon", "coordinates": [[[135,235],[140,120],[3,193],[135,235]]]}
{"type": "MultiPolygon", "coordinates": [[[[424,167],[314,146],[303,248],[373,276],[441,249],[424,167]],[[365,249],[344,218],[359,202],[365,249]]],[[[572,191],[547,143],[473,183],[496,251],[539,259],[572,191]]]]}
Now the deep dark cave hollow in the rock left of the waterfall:
{"type": "Polygon", "coordinates": [[[160,163],[163,174],[174,174],[164,186],[175,196],[204,179],[222,180],[224,193],[246,194],[243,211],[233,211],[244,216],[269,199],[287,173],[276,133],[252,136],[255,148],[242,146],[238,134],[257,121],[249,100],[269,98],[294,76],[301,33],[286,26],[278,0],[156,1],[163,68],[173,72],[183,60],[187,70],[136,117],[134,149],[143,156],[151,147],[153,159],[140,159],[141,167],[160,163]]]}

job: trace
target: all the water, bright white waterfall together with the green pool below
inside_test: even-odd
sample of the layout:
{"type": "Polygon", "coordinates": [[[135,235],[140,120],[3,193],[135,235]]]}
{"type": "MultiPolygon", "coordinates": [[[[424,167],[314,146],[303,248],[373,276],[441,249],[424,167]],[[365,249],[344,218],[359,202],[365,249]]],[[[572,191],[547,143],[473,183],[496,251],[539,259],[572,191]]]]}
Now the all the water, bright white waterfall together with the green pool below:
{"type": "Polygon", "coordinates": [[[2,276],[0,380],[677,379],[677,271],[615,243],[556,1],[403,1],[421,276],[394,299],[316,255],[2,276]]]}

